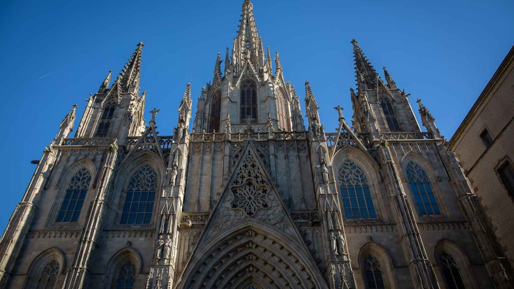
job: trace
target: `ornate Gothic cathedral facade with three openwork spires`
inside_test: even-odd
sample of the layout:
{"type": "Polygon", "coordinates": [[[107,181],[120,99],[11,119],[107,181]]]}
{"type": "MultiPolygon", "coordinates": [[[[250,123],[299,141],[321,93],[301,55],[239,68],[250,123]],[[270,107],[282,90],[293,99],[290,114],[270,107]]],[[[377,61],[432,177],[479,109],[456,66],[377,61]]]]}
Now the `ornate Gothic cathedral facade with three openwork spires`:
{"type": "Polygon", "coordinates": [[[245,0],[192,127],[189,84],[172,135],[157,131],[158,109],[144,124],[142,43],[72,138],[71,109],[0,239],[0,287],[511,288],[421,102],[427,131],[353,40],[353,128],[337,106],[326,131],[315,89],[305,82],[301,101],[285,81],[252,9],[245,0]]]}

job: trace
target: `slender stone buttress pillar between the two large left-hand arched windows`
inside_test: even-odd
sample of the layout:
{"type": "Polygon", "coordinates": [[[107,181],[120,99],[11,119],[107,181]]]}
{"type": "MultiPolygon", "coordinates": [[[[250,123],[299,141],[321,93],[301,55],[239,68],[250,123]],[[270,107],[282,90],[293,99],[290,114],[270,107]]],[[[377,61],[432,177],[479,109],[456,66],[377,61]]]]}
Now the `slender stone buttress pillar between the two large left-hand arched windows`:
{"type": "Polygon", "coordinates": [[[118,157],[118,146],[116,145],[116,139],[114,140],[111,149],[105,152],[105,160],[103,161],[102,169],[99,171],[102,175],[96,186],[96,196],[90,204],[87,221],[82,229],[79,245],[77,246],[73,262],[66,273],[62,289],[84,288],[87,286],[91,256],[95,252],[96,243],[101,233],[100,228],[103,221],[107,186],[111,181],[114,165],[118,157]]]}

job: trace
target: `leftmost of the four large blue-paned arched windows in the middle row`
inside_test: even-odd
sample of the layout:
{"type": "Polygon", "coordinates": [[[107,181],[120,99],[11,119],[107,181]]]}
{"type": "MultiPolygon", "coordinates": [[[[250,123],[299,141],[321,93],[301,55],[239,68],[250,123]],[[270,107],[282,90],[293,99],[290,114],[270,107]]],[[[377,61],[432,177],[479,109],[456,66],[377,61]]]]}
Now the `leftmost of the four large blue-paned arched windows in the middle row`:
{"type": "Polygon", "coordinates": [[[87,168],[80,169],[69,182],[64,201],[57,215],[57,222],[77,222],[91,182],[91,174],[87,168]]]}

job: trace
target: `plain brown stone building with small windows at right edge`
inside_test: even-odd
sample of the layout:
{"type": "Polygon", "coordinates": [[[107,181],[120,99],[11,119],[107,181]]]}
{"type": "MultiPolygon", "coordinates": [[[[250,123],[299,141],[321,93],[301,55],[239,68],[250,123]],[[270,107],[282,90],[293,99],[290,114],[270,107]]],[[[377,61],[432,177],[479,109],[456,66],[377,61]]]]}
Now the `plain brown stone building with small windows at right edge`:
{"type": "Polygon", "coordinates": [[[514,46],[449,143],[489,221],[500,258],[514,265],[514,46]],[[501,255],[504,252],[505,255],[501,255]]]}

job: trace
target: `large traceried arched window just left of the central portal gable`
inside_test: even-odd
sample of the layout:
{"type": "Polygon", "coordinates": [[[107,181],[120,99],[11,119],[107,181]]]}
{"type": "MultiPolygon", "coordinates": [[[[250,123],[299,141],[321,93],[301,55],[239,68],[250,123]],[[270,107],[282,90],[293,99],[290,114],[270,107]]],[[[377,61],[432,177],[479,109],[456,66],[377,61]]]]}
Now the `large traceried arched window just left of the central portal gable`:
{"type": "Polygon", "coordinates": [[[157,174],[150,165],[144,165],[132,176],[128,184],[121,224],[150,224],[154,210],[157,174]]]}

